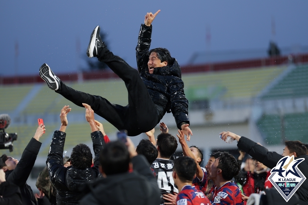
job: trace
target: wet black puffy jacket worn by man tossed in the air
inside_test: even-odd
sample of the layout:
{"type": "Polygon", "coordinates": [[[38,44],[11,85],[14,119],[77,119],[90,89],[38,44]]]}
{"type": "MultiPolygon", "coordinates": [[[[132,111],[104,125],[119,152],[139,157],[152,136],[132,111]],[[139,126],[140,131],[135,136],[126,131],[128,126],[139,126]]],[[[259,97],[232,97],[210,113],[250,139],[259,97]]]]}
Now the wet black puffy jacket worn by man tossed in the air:
{"type": "Polygon", "coordinates": [[[166,112],[172,112],[176,125],[189,124],[188,100],[184,94],[184,83],[181,79],[181,68],[175,58],[171,66],[154,68],[153,74],[148,71],[149,48],[151,44],[152,25],[141,24],[138,45],[136,47],[137,66],[140,76],[147,86],[152,101],[157,107],[160,119],[166,112]],[[171,110],[171,111],[170,111],[171,110]]]}

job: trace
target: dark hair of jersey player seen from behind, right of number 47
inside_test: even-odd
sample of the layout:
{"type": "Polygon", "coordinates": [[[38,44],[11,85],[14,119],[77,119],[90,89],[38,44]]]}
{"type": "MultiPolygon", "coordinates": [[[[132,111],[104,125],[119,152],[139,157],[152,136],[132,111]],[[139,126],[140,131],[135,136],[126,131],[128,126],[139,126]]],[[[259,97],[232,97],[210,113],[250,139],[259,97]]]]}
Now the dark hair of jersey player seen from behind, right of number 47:
{"type": "Polygon", "coordinates": [[[195,160],[182,156],[174,160],[173,169],[182,182],[192,182],[197,171],[195,160]]]}

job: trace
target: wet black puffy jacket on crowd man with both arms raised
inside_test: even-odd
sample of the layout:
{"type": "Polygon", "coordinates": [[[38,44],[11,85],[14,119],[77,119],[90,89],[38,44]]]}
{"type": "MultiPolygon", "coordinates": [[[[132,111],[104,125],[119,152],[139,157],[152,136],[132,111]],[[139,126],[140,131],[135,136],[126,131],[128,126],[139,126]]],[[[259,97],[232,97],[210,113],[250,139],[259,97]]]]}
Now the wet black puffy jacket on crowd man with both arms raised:
{"type": "Polygon", "coordinates": [[[46,161],[51,183],[53,183],[57,189],[57,205],[78,204],[81,198],[79,188],[85,182],[101,176],[98,170],[99,152],[103,149],[103,146],[105,146],[101,131],[92,132],[91,139],[95,153],[94,167],[85,170],[79,170],[72,166],[63,167],[65,136],[65,132],[54,132],[46,161]]]}

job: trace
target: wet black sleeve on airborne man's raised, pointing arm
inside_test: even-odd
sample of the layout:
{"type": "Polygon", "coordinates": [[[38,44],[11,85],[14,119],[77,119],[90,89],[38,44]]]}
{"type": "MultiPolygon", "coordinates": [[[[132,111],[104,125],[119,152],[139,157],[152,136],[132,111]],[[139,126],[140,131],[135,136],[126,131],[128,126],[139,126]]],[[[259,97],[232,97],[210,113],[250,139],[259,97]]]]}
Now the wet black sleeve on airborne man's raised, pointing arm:
{"type": "Polygon", "coordinates": [[[146,26],[141,24],[138,44],[136,47],[137,67],[139,73],[143,68],[148,67],[148,51],[151,45],[152,25],[146,26]]]}

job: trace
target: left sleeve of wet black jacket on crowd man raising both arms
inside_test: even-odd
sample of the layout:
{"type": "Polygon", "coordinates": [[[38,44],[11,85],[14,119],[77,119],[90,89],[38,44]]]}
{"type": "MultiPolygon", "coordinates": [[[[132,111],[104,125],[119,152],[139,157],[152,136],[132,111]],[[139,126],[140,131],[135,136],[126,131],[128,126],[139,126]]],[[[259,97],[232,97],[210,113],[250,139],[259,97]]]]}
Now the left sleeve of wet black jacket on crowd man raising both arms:
{"type": "MultiPolygon", "coordinates": [[[[67,169],[66,167],[63,167],[63,148],[65,137],[65,132],[55,131],[54,135],[52,135],[49,153],[47,155],[46,164],[49,171],[49,177],[51,183],[53,183],[54,185],[55,180],[59,176],[62,176],[62,174],[60,173],[62,169],[67,169]]],[[[58,181],[64,182],[64,179],[58,179],[58,181]]]]}

